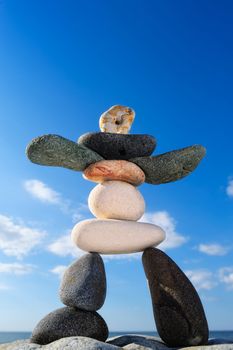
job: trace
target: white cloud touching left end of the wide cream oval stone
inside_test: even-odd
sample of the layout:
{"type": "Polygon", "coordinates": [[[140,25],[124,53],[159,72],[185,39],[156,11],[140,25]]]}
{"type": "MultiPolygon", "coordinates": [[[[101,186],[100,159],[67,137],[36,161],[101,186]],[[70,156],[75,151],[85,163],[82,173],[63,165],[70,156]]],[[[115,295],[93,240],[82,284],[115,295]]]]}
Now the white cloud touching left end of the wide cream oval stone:
{"type": "Polygon", "coordinates": [[[77,247],[75,247],[74,243],[71,241],[70,234],[66,234],[64,236],[61,236],[57,240],[55,240],[53,243],[51,243],[47,249],[56,255],[59,256],[73,256],[73,257],[80,257],[85,252],[77,247]]]}

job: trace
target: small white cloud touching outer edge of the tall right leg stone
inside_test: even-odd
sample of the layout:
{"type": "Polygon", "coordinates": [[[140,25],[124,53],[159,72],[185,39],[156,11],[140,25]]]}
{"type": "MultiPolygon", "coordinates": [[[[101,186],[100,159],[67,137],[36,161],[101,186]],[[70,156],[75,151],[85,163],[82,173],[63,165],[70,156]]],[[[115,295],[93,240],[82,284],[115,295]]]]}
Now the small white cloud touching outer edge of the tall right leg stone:
{"type": "Polygon", "coordinates": [[[191,280],[197,290],[210,290],[216,286],[214,275],[208,270],[187,270],[186,276],[191,280]]]}

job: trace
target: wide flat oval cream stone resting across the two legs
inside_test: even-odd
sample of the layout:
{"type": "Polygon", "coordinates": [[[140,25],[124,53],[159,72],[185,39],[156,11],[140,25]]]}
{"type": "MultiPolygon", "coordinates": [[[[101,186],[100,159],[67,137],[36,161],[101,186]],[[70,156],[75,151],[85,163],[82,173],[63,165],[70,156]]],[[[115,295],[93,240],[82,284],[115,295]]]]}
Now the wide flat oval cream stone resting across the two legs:
{"type": "Polygon", "coordinates": [[[165,232],[159,226],[143,222],[89,219],[75,225],[71,237],[87,252],[124,254],[158,245],[164,240],[165,232]]]}

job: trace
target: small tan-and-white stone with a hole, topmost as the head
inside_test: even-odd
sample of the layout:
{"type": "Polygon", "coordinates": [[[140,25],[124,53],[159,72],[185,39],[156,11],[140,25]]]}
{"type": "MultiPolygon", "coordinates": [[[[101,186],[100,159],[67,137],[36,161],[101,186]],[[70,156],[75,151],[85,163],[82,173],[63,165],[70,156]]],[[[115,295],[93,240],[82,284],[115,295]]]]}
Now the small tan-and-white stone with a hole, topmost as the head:
{"type": "Polygon", "coordinates": [[[101,115],[99,127],[102,132],[128,134],[134,117],[132,108],[116,105],[101,115]]]}

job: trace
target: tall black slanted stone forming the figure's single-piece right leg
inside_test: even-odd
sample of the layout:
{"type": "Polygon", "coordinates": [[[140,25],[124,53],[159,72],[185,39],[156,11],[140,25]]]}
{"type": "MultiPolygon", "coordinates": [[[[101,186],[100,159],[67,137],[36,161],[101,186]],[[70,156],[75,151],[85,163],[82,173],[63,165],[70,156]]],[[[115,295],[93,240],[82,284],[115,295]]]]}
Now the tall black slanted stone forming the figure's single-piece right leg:
{"type": "Polygon", "coordinates": [[[159,249],[146,249],[142,261],[149,282],[156,328],[162,340],[171,347],[207,344],[207,320],[189,279],[159,249]]]}

